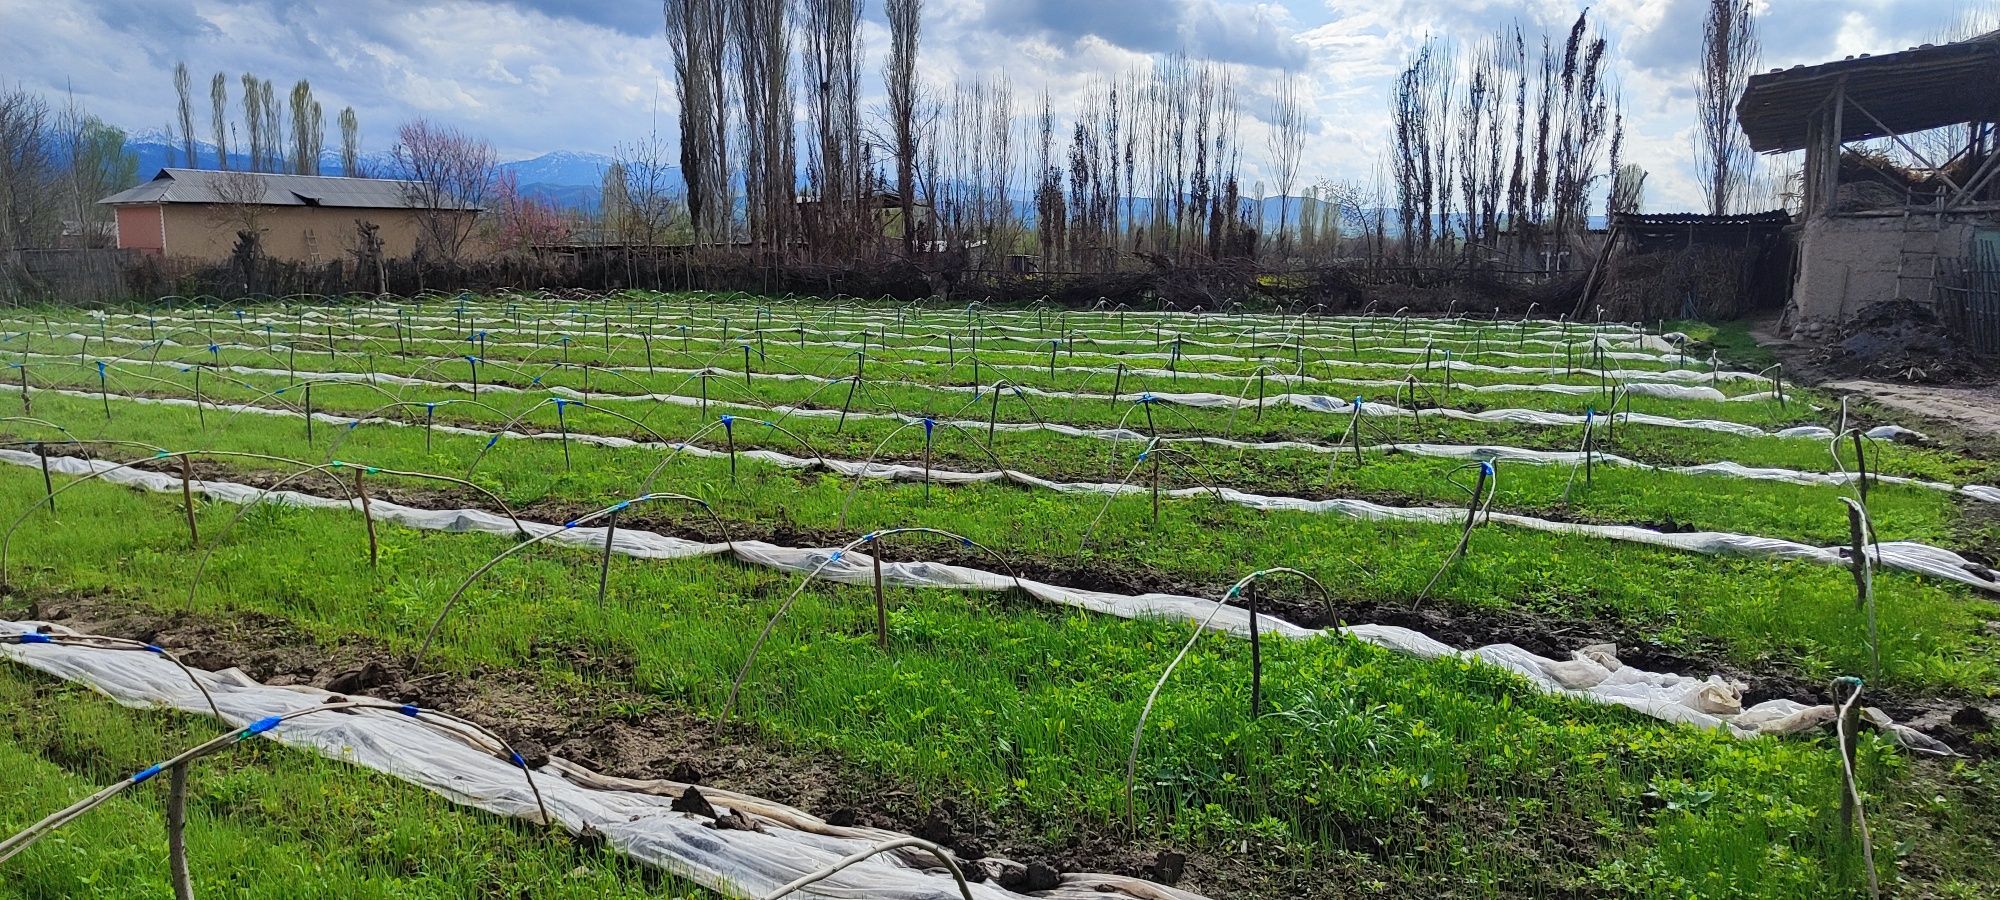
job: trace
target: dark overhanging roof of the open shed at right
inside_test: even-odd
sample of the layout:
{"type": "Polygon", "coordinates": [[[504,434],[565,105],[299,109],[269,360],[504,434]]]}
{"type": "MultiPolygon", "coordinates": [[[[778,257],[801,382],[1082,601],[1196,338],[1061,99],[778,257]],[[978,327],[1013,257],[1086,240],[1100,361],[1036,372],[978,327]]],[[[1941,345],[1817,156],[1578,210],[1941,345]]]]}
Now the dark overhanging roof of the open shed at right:
{"type": "Polygon", "coordinates": [[[1994,120],[2000,118],[2000,32],[1750,76],[1736,104],[1750,148],[1766,154],[1804,150],[1808,122],[1842,84],[1848,100],[1868,110],[1850,108],[1840,116],[1842,142],[1994,120]]]}

